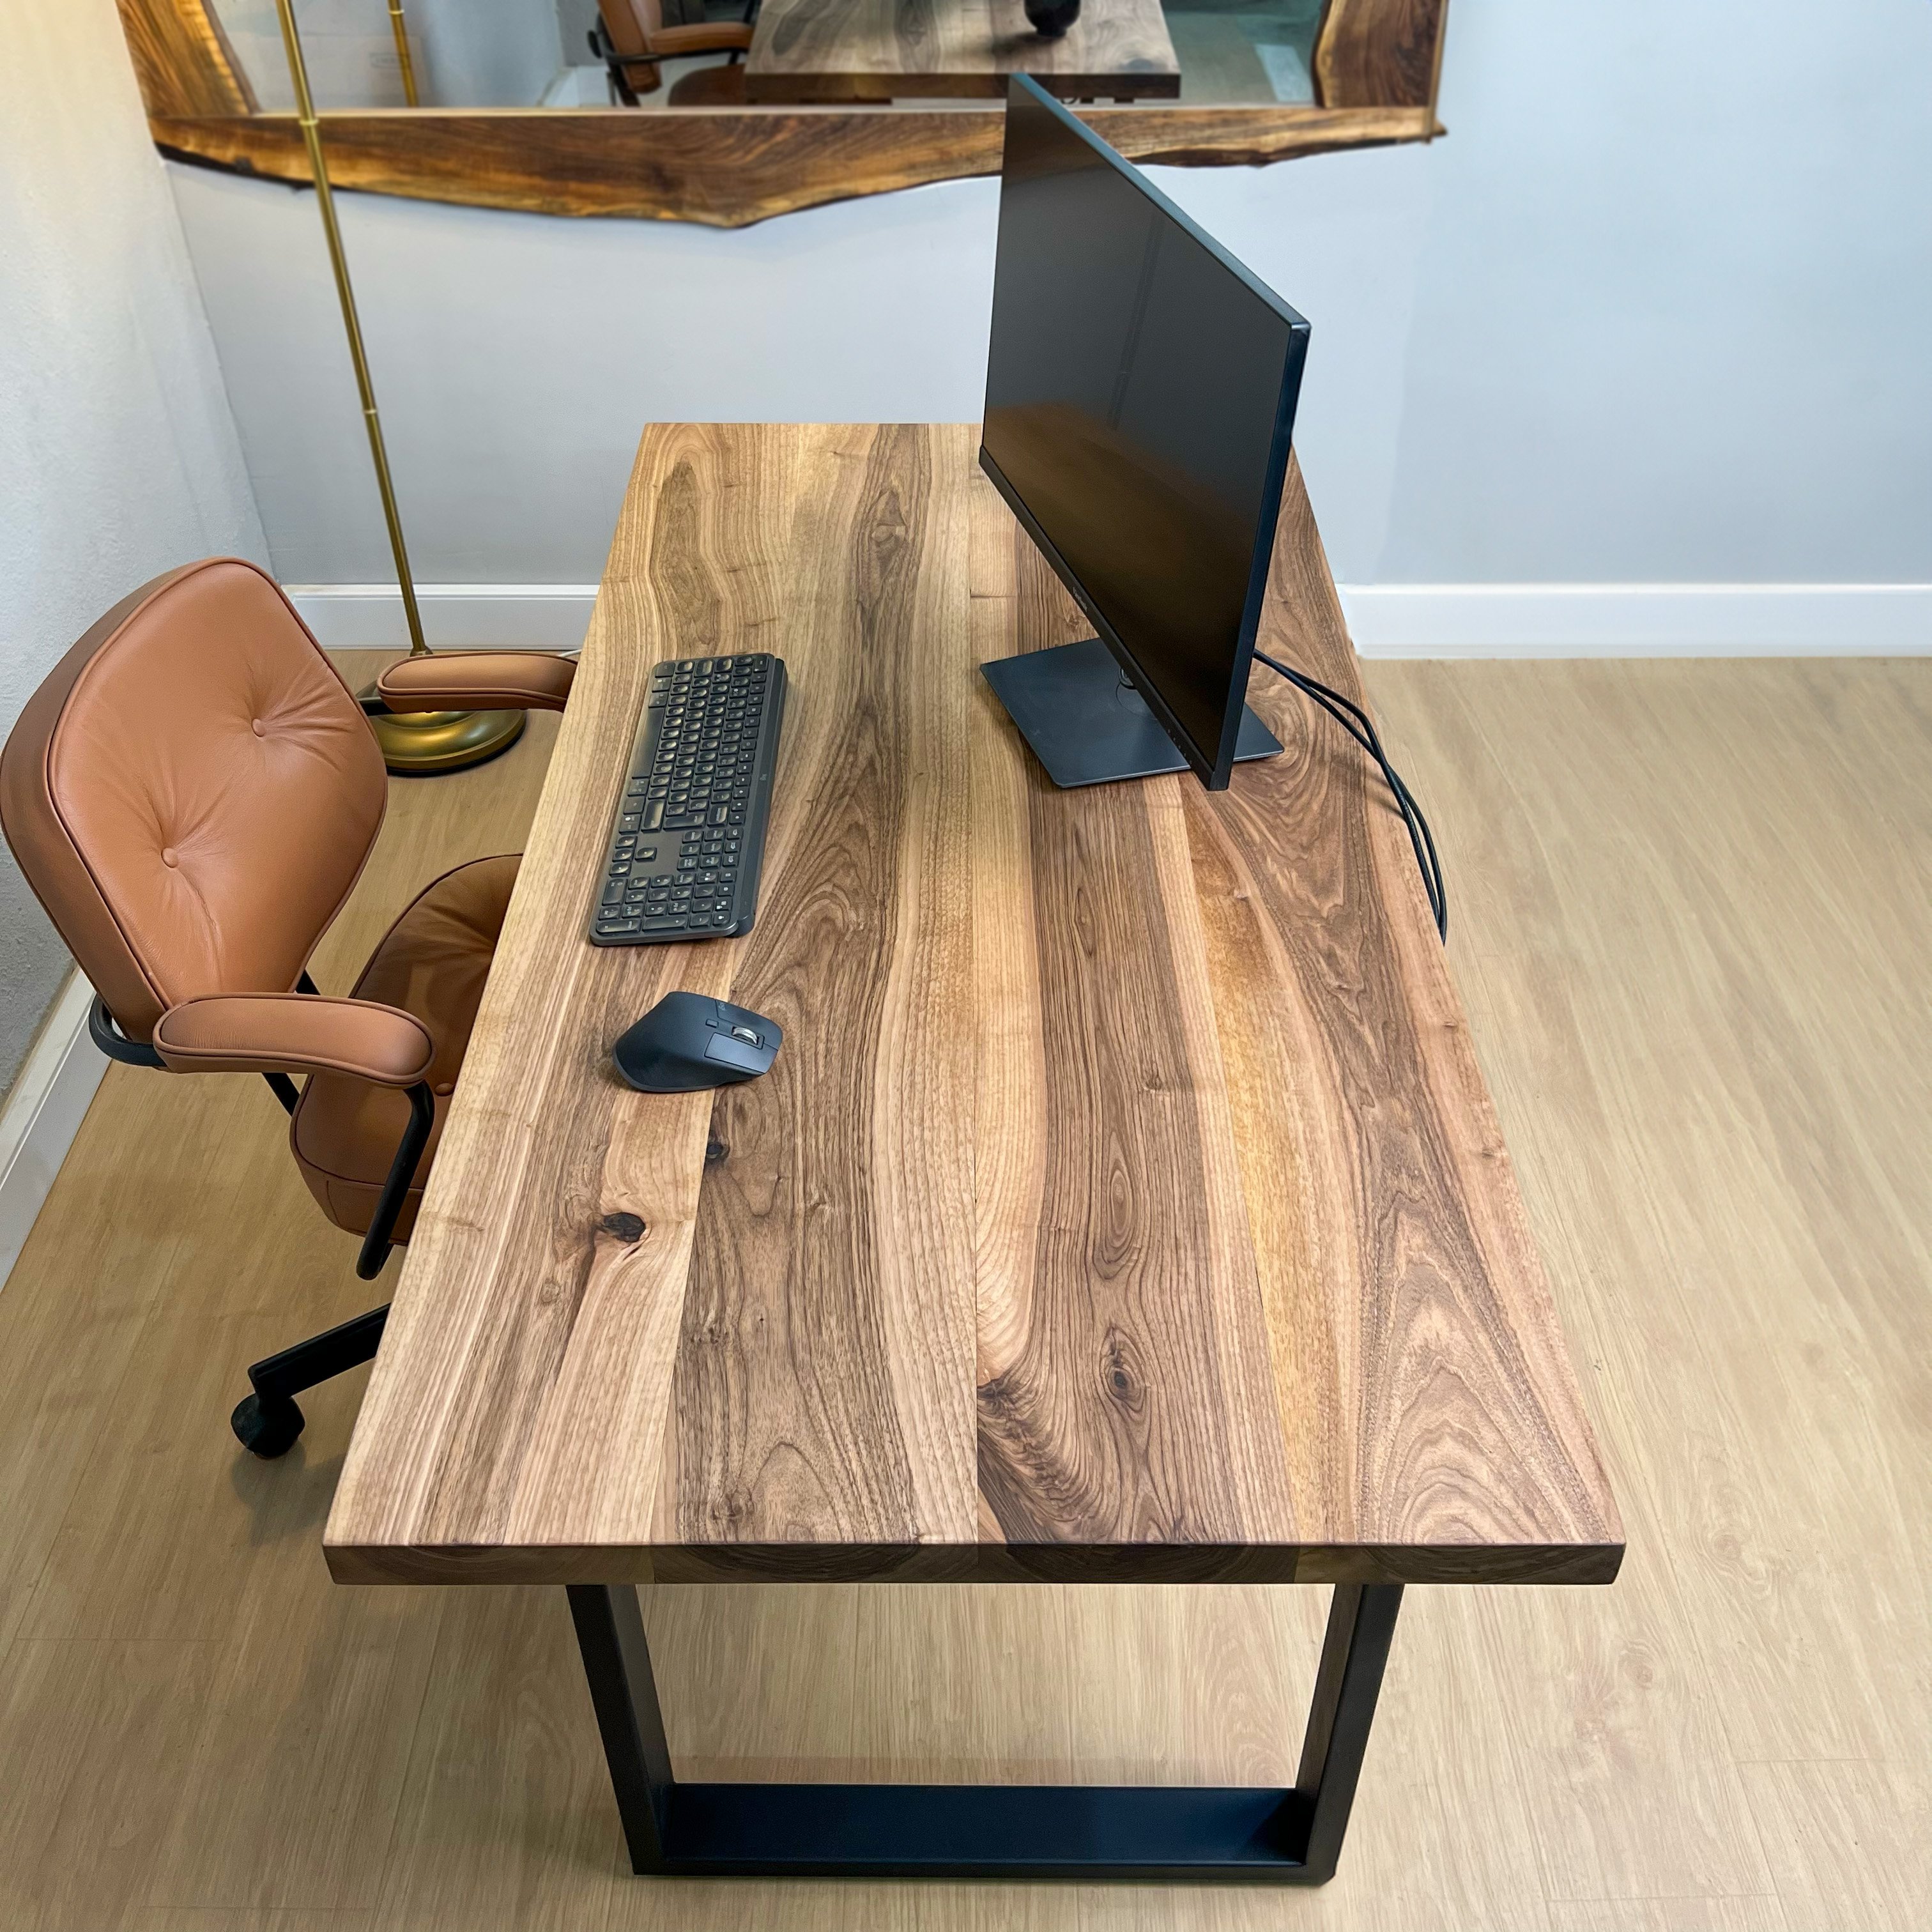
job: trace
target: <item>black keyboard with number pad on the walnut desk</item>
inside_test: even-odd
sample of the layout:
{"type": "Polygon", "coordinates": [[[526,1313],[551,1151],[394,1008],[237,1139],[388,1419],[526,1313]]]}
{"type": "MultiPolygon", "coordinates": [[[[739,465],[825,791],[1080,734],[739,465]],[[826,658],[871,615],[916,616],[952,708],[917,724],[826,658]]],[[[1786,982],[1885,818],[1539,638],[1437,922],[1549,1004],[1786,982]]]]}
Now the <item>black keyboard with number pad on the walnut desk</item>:
{"type": "Polygon", "coordinates": [[[651,672],[591,914],[601,947],[730,939],[757,916],[784,659],[678,657],[651,672]]]}

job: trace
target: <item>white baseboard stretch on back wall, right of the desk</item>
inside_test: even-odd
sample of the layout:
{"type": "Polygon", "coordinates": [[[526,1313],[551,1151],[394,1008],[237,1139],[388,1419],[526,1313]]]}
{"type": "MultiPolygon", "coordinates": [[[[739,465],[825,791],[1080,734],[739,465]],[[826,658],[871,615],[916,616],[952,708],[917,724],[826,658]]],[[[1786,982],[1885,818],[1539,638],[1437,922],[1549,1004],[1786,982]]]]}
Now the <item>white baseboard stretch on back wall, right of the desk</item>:
{"type": "Polygon", "coordinates": [[[1364,657],[1918,657],[1932,583],[1343,583],[1364,657]]]}

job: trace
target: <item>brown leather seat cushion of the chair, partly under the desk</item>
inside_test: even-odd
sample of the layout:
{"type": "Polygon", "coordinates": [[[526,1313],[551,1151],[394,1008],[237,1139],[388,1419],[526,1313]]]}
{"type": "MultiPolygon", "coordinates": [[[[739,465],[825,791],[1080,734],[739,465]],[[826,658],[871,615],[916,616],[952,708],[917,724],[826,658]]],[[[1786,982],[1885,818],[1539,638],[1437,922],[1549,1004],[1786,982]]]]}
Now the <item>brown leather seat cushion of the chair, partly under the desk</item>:
{"type": "MultiPolygon", "coordinates": [[[[396,1240],[408,1240],[415,1225],[518,864],[518,854],[510,854],[446,871],[396,920],[355,981],[355,999],[413,1012],[435,1043],[425,1078],[437,1095],[437,1124],[396,1217],[396,1240]]],[[[410,1097],[398,1088],[311,1074],[288,1122],[288,1142],[309,1192],[336,1227],[367,1233],[408,1121],[410,1097]]]]}

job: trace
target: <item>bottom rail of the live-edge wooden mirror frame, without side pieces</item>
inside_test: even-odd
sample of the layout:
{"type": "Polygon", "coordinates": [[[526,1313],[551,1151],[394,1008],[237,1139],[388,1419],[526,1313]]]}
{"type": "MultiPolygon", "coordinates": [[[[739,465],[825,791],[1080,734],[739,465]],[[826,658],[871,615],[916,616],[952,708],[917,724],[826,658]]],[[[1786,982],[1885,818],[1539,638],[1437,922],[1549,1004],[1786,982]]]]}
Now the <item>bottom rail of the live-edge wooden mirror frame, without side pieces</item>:
{"type": "MultiPolygon", "coordinates": [[[[1130,160],[1213,168],[1428,141],[1428,108],[1086,108],[1130,160]]],[[[690,108],[638,114],[375,110],[327,114],[336,187],[535,214],[744,228],[922,182],[997,174],[1001,108],[690,108]]],[[[307,182],[290,114],[149,116],[174,160],[307,182]]]]}

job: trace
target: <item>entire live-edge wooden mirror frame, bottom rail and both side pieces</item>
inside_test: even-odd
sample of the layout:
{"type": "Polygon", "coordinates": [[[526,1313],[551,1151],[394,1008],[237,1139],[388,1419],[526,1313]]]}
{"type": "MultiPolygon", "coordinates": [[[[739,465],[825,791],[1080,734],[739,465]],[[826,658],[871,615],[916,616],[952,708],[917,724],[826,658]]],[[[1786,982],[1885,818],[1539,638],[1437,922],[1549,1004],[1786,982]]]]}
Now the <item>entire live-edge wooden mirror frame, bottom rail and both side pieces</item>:
{"type": "MultiPolygon", "coordinates": [[[[118,0],[155,145],[307,182],[294,114],[265,114],[214,0],[118,0]]],[[[1430,141],[1447,0],[1325,0],[1314,106],[1084,106],[1130,160],[1231,166],[1430,141]]],[[[328,112],[338,187],[539,214],[742,228],[922,182],[997,174],[1003,106],[377,108],[328,112]]]]}

